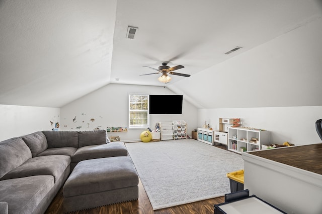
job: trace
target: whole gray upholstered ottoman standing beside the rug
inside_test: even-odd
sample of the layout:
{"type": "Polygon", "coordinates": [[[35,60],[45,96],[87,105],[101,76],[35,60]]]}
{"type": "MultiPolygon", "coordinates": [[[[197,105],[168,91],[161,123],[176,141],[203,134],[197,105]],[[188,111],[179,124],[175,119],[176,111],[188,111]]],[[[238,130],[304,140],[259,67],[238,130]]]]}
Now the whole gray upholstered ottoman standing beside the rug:
{"type": "Polygon", "coordinates": [[[79,162],[63,186],[66,212],[138,198],[138,175],[129,156],[79,162]]]}

